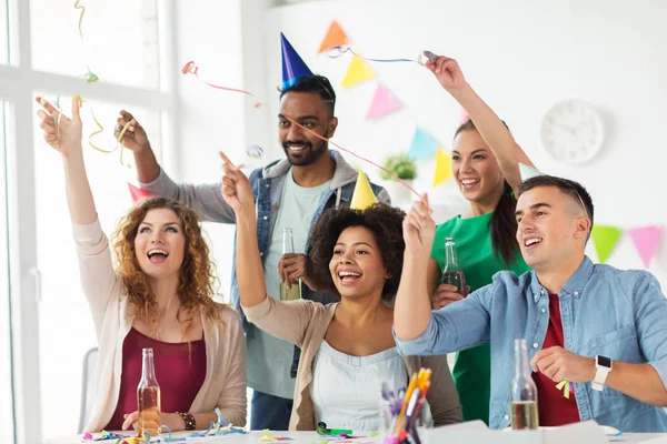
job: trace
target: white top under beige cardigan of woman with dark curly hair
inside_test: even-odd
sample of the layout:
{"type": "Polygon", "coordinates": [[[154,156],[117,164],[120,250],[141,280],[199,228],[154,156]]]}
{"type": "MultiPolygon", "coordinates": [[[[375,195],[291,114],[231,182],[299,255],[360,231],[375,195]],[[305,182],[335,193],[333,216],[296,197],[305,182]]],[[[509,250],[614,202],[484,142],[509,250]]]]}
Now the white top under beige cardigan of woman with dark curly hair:
{"type": "Polygon", "coordinates": [[[315,423],[355,433],[378,430],[382,382],[399,389],[408,381],[406,363],[396,347],[369,356],[350,356],[322,341],[312,366],[315,423]]]}

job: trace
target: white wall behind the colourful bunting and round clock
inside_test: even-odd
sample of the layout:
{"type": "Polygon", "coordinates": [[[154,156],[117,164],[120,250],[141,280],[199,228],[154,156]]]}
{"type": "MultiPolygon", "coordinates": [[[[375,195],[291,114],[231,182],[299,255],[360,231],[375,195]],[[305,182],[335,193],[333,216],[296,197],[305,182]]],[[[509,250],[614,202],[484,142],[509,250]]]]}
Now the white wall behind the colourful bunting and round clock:
{"type": "MultiPolygon", "coordinates": [[[[247,142],[268,140],[269,157],[281,155],[273,124],[278,113],[275,91],[281,75],[280,31],[311,70],[332,81],[340,119],[335,141],[342,147],[381,161],[387,152],[409,148],[417,124],[444,144],[450,142],[460,110],[417,64],[372,64],[405,109],[365,122],[376,80],[340,89],[349,58],[317,56],[331,20],[337,19],[352,47],[367,57],[411,58],[429,49],[457,58],[468,81],[508,122],[538,168],[588,188],[596,203],[596,222],[624,229],[667,225],[667,200],[661,196],[667,147],[659,137],[667,118],[667,62],[660,52],[667,42],[667,28],[661,26],[665,17],[667,3],[658,0],[341,0],[270,8],[253,24],[256,32],[263,33],[262,72],[270,107],[262,111],[262,119],[269,125],[253,128],[247,142]],[[551,104],[568,98],[595,105],[608,128],[603,152],[576,168],[557,162],[539,143],[541,117],[551,104]]],[[[252,75],[256,81],[257,73],[252,75]]],[[[421,190],[432,180],[429,167],[420,170],[421,190]]],[[[436,194],[445,199],[448,192],[436,194]]],[[[593,251],[590,255],[597,259],[593,251]]],[[[643,266],[628,236],[621,239],[609,263],[643,266]]],[[[650,268],[663,284],[666,269],[667,246],[663,245],[650,268]]]]}

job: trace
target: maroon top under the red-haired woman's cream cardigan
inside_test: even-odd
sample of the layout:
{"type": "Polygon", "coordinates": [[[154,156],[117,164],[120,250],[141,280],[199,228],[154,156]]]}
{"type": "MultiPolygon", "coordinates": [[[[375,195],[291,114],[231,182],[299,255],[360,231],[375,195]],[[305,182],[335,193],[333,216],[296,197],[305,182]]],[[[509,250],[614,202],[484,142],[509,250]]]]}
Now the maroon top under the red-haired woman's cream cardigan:
{"type": "Polygon", "coordinates": [[[122,344],[120,393],[116,411],[106,430],[121,430],[125,421],[122,416],[137,411],[137,386],[141,380],[141,349],[153,350],[162,412],[189,412],[195,396],[203,384],[206,377],[203,339],[190,342],[190,351],[188,351],[186,342],[157,341],[132,327],[122,344]]]}

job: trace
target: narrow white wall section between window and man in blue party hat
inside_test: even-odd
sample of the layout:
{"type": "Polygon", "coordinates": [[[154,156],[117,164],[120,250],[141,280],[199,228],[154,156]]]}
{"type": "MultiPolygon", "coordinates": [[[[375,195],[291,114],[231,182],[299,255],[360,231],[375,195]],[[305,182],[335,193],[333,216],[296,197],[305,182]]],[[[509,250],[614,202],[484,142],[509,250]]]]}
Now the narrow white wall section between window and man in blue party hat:
{"type": "MultiPolygon", "coordinates": [[[[179,69],[188,61],[199,65],[199,77],[210,83],[241,88],[241,1],[196,0],[176,2],[177,60],[179,69]]],[[[210,88],[195,75],[177,74],[181,100],[177,121],[178,160],[176,180],[191,183],[217,182],[221,176],[218,151],[242,162],[245,142],[245,99],[241,94],[210,88]]],[[[233,225],[207,223],[225,296],[229,295],[233,225]]]]}

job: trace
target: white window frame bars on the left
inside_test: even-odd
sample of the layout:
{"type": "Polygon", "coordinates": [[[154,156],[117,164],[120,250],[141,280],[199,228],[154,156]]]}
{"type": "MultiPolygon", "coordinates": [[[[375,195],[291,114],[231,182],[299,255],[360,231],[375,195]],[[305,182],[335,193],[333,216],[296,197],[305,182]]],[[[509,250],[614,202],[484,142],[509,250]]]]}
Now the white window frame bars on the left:
{"type": "MultiPolygon", "coordinates": [[[[180,175],[180,162],[175,122],[178,122],[179,94],[176,73],[177,57],[177,6],[176,0],[158,0],[160,83],[163,91],[132,88],[100,82],[89,85],[71,77],[33,70],[31,67],[30,0],[9,0],[13,12],[8,18],[11,29],[12,54],[18,64],[0,65],[0,99],[11,103],[13,131],[8,134],[8,223],[10,300],[12,306],[12,370],[14,444],[42,442],[40,414],[40,362],[39,362],[39,299],[40,272],[37,268],[36,183],[34,183],[34,118],[36,91],[79,92],[91,102],[121,102],[128,108],[137,107],[161,112],[162,160],[161,163],[180,175]],[[16,51],[14,51],[16,50],[16,51]]],[[[13,61],[12,61],[13,62],[13,61]]]]}

